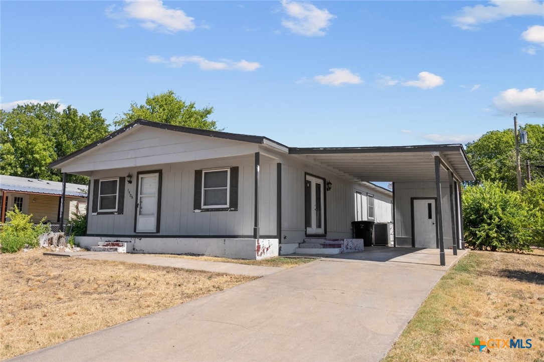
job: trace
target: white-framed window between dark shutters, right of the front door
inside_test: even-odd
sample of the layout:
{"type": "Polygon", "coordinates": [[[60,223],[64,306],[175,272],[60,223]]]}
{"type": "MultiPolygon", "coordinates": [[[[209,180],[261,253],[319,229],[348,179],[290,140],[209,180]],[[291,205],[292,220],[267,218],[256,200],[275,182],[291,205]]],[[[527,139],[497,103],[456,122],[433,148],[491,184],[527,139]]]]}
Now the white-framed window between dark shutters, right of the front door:
{"type": "Polygon", "coordinates": [[[202,170],[202,209],[228,208],[230,168],[202,170]]]}

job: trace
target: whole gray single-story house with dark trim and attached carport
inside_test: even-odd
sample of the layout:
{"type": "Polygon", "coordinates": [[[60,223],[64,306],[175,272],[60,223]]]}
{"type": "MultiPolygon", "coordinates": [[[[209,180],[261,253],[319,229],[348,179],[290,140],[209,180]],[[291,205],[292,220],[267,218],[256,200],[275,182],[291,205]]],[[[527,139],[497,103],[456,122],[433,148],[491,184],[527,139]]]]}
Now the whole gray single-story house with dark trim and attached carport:
{"type": "Polygon", "coordinates": [[[393,199],[395,246],[462,245],[459,184],[474,179],[461,145],[292,148],[145,120],[50,166],[90,177],[84,247],[249,259],[361,249],[351,222],[391,222],[393,199]]]}

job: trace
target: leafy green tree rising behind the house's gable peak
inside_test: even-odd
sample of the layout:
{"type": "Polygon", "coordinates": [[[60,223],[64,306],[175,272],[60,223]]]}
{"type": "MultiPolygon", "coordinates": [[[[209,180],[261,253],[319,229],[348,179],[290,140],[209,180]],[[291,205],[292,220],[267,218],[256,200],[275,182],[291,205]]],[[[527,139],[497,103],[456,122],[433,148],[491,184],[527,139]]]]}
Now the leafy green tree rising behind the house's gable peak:
{"type": "Polygon", "coordinates": [[[217,130],[215,121],[208,120],[213,107],[198,109],[194,102],[187,103],[177,97],[174,91],[147,96],[145,104],[131,103],[131,108],[115,118],[115,128],[125,127],[139,118],[176,126],[217,130]]]}

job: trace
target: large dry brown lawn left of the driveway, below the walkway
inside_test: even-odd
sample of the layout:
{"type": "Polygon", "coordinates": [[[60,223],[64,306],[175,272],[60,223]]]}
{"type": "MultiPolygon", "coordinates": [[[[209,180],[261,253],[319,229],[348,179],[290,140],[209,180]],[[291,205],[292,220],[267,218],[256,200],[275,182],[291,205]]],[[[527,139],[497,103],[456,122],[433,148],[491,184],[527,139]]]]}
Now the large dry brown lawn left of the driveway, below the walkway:
{"type": "Polygon", "coordinates": [[[255,277],[0,254],[0,359],[51,346],[255,277]]]}

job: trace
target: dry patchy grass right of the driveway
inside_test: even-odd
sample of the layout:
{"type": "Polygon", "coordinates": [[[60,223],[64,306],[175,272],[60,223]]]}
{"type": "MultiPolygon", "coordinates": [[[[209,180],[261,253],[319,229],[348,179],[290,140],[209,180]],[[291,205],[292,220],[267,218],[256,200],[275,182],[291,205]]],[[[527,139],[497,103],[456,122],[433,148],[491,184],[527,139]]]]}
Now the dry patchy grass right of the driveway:
{"type": "Polygon", "coordinates": [[[471,251],[432,290],[386,361],[544,361],[544,252],[471,251]],[[531,339],[478,352],[474,338],[531,339]]]}

